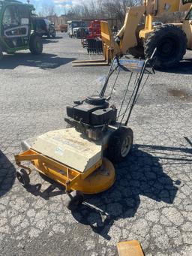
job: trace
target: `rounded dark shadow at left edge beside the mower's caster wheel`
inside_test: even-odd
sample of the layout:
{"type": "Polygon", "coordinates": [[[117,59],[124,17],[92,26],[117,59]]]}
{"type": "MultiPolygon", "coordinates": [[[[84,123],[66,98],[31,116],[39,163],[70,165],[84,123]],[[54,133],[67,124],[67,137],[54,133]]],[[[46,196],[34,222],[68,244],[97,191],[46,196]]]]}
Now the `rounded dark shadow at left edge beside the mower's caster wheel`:
{"type": "Polygon", "coordinates": [[[0,197],[10,191],[15,181],[15,177],[15,167],[0,150],[0,197]]]}

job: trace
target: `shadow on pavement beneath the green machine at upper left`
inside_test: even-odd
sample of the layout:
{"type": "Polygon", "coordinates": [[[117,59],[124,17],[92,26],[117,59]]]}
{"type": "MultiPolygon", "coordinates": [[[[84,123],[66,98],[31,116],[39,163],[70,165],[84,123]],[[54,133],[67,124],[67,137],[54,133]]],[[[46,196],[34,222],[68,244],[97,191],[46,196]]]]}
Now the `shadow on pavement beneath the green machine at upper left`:
{"type": "Polygon", "coordinates": [[[38,56],[31,53],[15,53],[5,55],[0,62],[0,69],[14,69],[18,66],[37,67],[42,69],[54,69],[73,62],[74,58],[60,58],[55,54],[42,53],[38,56]]]}

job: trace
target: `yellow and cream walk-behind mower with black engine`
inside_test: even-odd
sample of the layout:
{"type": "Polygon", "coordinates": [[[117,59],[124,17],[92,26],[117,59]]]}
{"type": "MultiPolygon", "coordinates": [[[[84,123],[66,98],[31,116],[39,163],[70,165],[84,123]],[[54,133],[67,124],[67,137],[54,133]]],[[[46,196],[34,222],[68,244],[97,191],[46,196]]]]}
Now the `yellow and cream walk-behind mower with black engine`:
{"type": "Polygon", "coordinates": [[[71,128],[23,141],[23,152],[15,155],[22,185],[29,185],[31,173],[22,162],[30,161],[39,173],[65,186],[69,209],[83,202],[83,194],[110,188],[115,182],[113,163],[126,158],[133,145],[133,131],[127,125],[148,75],[154,73],[153,57],[146,61],[115,57],[101,92],[67,107],[65,121],[71,128]],[[118,110],[110,101],[122,72],[127,78],[118,110]]]}

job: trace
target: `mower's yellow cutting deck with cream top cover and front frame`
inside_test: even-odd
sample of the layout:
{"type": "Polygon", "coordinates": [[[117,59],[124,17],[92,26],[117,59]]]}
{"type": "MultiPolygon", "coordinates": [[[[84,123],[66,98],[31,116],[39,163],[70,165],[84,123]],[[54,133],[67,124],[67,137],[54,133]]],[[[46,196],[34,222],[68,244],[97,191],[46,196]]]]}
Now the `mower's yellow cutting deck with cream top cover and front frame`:
{"type": "Polygon", "coordinates": [[[113,164],[102,158],[102,142],[87,140],[74,128],[49,131],[30,143],[26,142],[28,150],[15,155],[16,163],[31,173],[31,169],[22,164],[30,161],[37,171],[65,185],[67,192],[97,194],[115,181],[113,164]]]}

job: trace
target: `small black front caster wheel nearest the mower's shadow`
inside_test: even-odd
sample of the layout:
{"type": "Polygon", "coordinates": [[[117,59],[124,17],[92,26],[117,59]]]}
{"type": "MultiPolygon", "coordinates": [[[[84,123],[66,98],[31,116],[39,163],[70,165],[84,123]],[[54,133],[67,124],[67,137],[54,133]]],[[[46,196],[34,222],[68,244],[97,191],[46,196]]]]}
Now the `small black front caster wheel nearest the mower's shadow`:
{"type": "Polygon", "coordinates": [[[74,211],[77,209],[78,206],[80,206],[83,203],[84,197],[83,193],[80,191],[72,191],[70,194],[68,194],[68,200],[66,206],[69,210],[74,211]]]}

